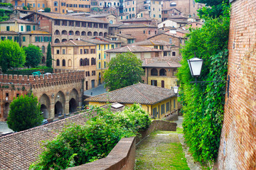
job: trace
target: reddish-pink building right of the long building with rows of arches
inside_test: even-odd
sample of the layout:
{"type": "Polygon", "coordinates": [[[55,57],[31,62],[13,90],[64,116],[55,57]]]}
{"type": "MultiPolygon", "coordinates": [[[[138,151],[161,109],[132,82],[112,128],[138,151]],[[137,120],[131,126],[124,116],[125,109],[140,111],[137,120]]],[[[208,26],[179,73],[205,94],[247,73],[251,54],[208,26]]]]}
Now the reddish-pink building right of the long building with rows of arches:
{"type": "Polygon", "coordinates": [[[157,35],[158,33],[157,26],[141,23],[124,24],[119,26],[117,29],[119,34],[132,35],[132,37],[136,38],[137,42],[146,40],[152,35],[157,35]]]}

